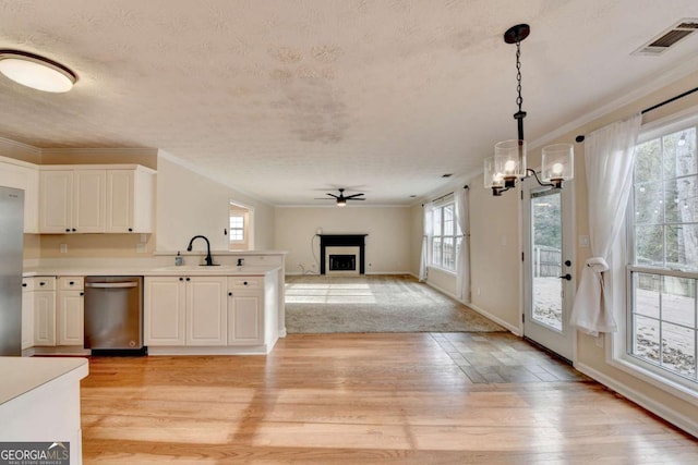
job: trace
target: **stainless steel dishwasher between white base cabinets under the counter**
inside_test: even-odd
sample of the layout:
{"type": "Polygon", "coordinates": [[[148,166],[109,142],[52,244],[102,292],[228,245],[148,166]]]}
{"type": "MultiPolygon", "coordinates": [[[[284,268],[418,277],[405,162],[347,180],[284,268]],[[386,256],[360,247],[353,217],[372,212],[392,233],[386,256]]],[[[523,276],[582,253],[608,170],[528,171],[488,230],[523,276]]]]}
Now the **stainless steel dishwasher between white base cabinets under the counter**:
{"type": "Polygon", "coordinates": [[[85,348],[145,354],[143,277],[85,278],[85,348]]]}

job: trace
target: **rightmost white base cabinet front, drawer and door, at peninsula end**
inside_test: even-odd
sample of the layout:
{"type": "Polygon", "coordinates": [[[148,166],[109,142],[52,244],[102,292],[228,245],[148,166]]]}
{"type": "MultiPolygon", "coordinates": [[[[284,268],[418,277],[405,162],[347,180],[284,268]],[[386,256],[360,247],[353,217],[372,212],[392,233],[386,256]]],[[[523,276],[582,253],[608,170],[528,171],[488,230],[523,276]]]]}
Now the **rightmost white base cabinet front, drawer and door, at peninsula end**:
{"type": "Polygon", "coordinates": [[[264,343],[264,280],[228,278],[228,345],[264,343]]]}

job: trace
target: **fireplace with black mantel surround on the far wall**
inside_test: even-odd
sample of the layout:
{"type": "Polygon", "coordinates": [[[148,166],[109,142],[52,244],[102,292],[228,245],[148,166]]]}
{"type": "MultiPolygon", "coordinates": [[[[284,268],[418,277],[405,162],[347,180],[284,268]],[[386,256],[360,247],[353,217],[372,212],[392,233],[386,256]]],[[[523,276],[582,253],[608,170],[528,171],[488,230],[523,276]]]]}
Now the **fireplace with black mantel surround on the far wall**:
{"type": "Polygon", "coordinates": [[[366,234],[321,234],[321,274],[351,276],[365,272],[366,234]]]}

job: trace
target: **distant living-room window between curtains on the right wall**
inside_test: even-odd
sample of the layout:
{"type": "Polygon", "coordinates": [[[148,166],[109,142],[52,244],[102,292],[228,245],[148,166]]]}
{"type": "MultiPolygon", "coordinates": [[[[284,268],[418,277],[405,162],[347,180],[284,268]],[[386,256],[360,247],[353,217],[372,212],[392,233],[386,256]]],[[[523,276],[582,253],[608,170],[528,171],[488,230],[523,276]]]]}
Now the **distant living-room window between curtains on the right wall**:
{"type": "Polygon", "coordinates": [[[448,203],[432,209],[432,244],[430,264],[447,271],[456,271],[456,258],[462,233],[456,221],[456,206],[448,203]]]}

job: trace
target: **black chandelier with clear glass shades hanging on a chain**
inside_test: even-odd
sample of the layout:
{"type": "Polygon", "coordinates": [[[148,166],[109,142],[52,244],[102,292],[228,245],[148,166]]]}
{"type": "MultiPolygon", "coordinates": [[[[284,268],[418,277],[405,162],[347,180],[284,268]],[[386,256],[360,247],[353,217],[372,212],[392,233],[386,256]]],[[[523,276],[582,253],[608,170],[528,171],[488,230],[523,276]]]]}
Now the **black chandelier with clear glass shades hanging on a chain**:
{"type": "Polygon", "coordinates": [[[528,24],[518,24],[504,33],[506,44],[516,44],[516,105],[514,113],[517,122],[518,138],[503,140],[494,146],[494,157],[484,160],[484,186],[492,188],[492,195],[501,196],[503,192],[516,186],[517,179],[533,175],[542,186],[562,188],[563,182],[574,178],[574,148],[571,144],[553,144],[543,147],[541,160],[541,178],[535,170],[526,167],[526,139],[524,138],[524,118],[521,109],[521,41],[528,37],[531,28],[528,24]],[[541,181],[542,180],[542,181],[541,181]]]}

